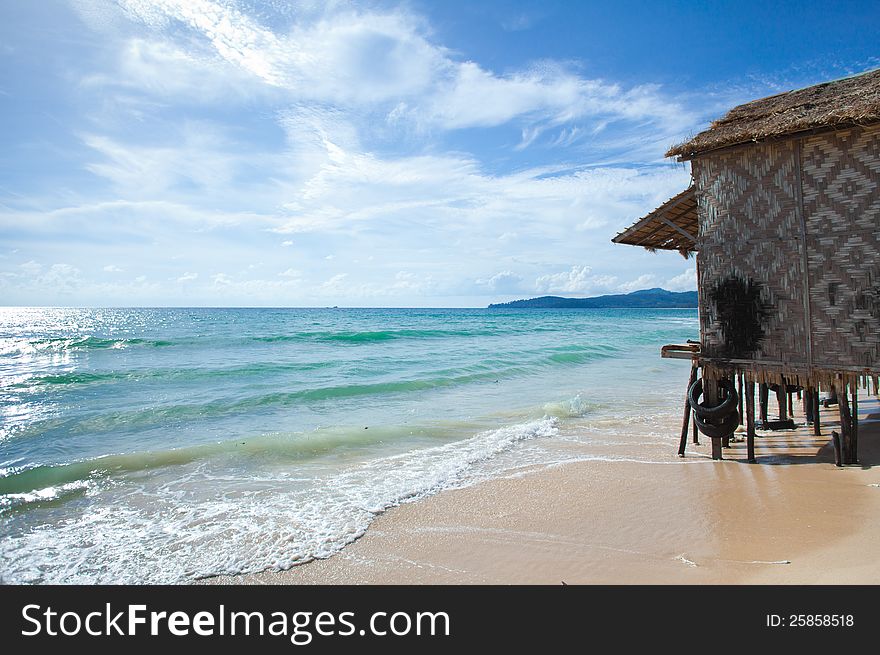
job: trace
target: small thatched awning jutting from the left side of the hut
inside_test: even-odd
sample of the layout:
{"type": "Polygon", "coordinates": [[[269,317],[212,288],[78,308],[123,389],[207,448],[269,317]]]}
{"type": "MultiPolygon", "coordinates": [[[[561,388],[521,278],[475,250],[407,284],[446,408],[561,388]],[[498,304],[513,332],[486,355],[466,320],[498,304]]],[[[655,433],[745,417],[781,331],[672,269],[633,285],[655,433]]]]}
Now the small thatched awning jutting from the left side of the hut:
{"type": "Polygon", "coordinates": [[[677,250],[688,257],[697,248],[699,229],[694,187],[688,187],[612,241],[648,250],[677,250]]]}

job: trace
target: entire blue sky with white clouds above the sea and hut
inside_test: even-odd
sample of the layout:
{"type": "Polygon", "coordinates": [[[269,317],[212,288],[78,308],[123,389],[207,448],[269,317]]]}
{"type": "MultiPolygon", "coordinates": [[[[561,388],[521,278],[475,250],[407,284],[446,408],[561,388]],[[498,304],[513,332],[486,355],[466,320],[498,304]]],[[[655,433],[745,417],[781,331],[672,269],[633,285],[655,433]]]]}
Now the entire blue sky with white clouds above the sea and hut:
{"type": "Polygon", "coordinates": [[[880,3],[0,0],[0,305],[483,307],[695,288],[615,245],[880,3]]]}

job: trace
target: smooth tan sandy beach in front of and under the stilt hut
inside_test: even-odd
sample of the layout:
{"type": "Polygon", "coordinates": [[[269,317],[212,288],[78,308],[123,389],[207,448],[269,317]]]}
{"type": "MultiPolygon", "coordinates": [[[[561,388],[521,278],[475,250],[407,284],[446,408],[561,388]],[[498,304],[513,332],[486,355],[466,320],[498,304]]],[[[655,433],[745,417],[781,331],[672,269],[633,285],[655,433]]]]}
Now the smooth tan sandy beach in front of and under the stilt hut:
{"type": "Polygon", "coordinates": [[[877,584],[876,399],[862,402],[861,415],[860,466],[834,466],[836,408],[823,410],[820,437],[804,427],[759,431],[757,464],[746,463],[744,441],[713,462],[705,438],[684,459],[658,448],[633,461],[624,456],[640,448],[633,434],[616,459],[584,452],[586,461],[393,508],[329,559],[202,582],[877,584]]]}

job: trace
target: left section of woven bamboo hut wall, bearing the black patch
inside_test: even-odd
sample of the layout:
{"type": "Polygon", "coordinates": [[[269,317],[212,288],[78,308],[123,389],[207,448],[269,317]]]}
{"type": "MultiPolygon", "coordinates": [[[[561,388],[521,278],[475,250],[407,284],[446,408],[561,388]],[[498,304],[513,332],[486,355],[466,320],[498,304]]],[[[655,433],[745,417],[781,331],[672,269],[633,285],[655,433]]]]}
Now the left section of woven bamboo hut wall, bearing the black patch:
{"type": "MultiPolygon", "coordinates": [[[[765,364],[807,365],[803,239],[797,211],[796,149],[782,141],[700,157],[692,162],[700,213],[699,288],[703,355],[765,364]],[[726,280],[751,285],[735,303],[758,334],[731,347],[713,291],[726,280]],[[746,294],[747,295],[747,294],[746,294]],[[754,316],[754,314],[758,314],[754,316]]],[[[746,326],[748,327],[748,326],[746,326]]]]}

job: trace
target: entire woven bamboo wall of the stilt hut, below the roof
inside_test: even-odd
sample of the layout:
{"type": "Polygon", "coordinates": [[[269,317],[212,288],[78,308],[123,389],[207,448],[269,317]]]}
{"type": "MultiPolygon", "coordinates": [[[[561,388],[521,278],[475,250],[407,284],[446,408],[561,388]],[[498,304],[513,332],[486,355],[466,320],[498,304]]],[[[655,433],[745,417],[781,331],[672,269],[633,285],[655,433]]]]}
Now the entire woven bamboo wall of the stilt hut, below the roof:
{"type": "Polygon", "coordinates": [[[702,359],[760,379],[880,372],[880,126],[708,153],[702,359]]]}

